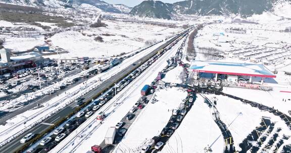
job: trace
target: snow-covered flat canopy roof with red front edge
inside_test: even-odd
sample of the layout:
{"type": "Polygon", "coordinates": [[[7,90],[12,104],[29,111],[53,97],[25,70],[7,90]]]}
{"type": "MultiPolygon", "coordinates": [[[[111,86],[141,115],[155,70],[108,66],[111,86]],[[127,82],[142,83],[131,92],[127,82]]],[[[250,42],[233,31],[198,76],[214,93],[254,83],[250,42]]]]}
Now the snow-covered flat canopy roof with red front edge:
{"type": "Polygon", "coordinates": [[[262,64],[193,60],[190,69],[197,72],[276,78],[276,75],[262,64]]]}

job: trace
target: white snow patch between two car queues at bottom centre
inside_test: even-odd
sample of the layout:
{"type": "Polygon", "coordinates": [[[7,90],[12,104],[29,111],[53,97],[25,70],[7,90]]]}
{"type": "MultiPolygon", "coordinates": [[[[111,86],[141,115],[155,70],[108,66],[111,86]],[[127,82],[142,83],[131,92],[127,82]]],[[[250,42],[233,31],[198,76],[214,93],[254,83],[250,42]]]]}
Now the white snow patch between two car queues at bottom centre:
{"type": "Polygon", "coordinates": [[[187,92],[171,88],[156,91],[155,95],[158,102],[144,108],[113,152],[134,152],[144,142],[159,135],[172,115],[171,110],[179,107],[187,92]],[[130,148],[130,151],[124,148],[130,148]]]}

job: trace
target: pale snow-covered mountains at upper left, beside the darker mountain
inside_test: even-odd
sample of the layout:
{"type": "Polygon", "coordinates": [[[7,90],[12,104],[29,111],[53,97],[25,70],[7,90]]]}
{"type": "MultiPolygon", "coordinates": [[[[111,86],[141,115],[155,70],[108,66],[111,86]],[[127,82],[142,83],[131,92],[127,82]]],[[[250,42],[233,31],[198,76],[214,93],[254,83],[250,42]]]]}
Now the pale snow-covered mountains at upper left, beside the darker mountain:
{"type": "Polygon", "coordinates": [[[131,8],[125,5],[112,5],[100,0],[0,0],[20,6],[33,6],[36,8],[79,8],[82,6],[95,7],[104,12],[129,13],[131,8]]]}

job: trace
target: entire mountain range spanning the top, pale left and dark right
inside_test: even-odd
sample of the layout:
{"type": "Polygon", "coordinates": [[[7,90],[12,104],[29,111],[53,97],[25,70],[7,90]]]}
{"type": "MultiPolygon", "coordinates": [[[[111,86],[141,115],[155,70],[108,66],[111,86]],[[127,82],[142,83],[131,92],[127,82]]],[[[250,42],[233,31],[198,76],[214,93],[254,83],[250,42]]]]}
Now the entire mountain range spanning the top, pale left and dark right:
{"type": "Polygon", "coordinates": [[[175,15],[181,14],[202,16],[237,14],[248,17],[254,14],[262,14],[265,11],[273,11],[275,4],[282,1],[291,3],[291,0],[181,0],[181,2],[173,4],[161,1],[143,1],[134,8],[130,8],[125,5],[108,4],[101,0],[0,0],[4,3],[35,8],[78,8],[112,13],[129,13],[132,16],[160,19],[172,19],[175,15]]]}

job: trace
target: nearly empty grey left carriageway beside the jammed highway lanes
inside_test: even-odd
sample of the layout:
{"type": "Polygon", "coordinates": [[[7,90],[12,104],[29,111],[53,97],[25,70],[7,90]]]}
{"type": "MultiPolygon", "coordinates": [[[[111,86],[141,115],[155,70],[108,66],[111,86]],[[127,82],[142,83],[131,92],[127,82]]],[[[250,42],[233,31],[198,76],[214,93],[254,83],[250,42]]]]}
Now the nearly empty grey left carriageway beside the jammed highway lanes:
{"type": "MultiPolygon", "coordinates": [[[[149,58],[151,58],[152,56],[154,56],[155,54],[157,54],[159,50],[165,48],[168,44],[170,44],[174,40],[178,39],[184,33],[186,33],[186,31],[184,31],[182,34],[180,34],[178,36],[175,36],[171,40],[167,41],[165,44],[161,45],[160,47],[158,47],[157,49],[153,50],[149,54],[143,56],[142,58],[140,58],[137,61],[141,61],[141,63],[146,62],[149,58]]],[[[116,81],[122,79],[126,74],[128,74],[131,71],[133,71],[138,66],[139,66],[139,64],[135,64],[135,65],[130,64],[124,70],[120,71],[119,73],[117,73],[116,75],[114,75],[112,78],[110,78],[109,80],[105,81],[98,88],[96,88],[96,89],[90,91],[89,93],[87,93],[86,95],[84,95],[83,96],[83,98],[84,98],[83,101],[87,101],[87,100],[92,99],[92,97],[94,95],[97,95],[97,94],[101,93],[103,90],[105,90],[106,88],[108,88],[111,85],[113,85],[116,81]]],[[[28,133],[41,133],[41,132],[45,131],[46,129],[48,129],[50,127],[49,124],[54,124],[54,123],[58,122],[60,119],[62,119],[64,116],[67,116],[68,114],[70,114],[71,112],[73,112],[75,106],[76,106],[75,103],[72,103],[72,104],[68,105],[66,108],[64,108],[63,110],[59,111],[55,115],[47,118],[41,124],[38,124],[35,127],[29,129],[28,131],[24,132],[23,134],[21,134],[16,139],[12,140],[11,142],[9,142],[6,145],[4,145],[3,147],[1,147],[0,148],[0,152],[14,152],[14,151],[16,151],[18,148],[20,148],[21,146],[23,146],[23,144],[20,143],[20,139],[23,136],[25,136],[28,133]],[[49,123],[49,124],[47,124],[47,123],[49,123]]]]}

